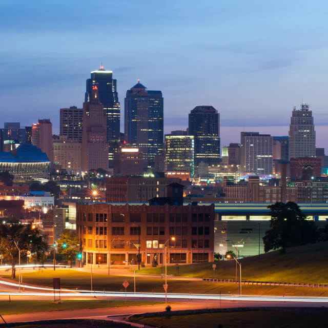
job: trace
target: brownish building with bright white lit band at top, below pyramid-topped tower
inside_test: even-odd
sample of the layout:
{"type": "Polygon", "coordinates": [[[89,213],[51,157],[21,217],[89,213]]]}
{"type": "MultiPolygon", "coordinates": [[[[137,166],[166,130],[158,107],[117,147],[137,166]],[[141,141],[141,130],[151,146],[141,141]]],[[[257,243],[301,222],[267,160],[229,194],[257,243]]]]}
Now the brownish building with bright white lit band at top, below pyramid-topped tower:
{"type": "Polygon", "coordinates": [[[142,153],[139,149],[128,145],[121,146],[114,155],[114,175],[141,175],[142,172],[142,153]]]}

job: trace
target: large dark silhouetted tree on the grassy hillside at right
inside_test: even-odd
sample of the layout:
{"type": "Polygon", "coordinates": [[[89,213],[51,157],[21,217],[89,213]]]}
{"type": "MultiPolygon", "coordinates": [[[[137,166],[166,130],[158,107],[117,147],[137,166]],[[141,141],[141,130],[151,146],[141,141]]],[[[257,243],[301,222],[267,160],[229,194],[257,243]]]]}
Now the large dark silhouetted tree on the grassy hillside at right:
{"type": "Polygon", "coordinates": [[[281,249],[281,253],[285,253],[287,247],[317,241],[314,222],[306,220],[306,215],[296,203],[276,202],[268,209],[271,210],[271,229],[263,237],[265,252],[281,249]]]}

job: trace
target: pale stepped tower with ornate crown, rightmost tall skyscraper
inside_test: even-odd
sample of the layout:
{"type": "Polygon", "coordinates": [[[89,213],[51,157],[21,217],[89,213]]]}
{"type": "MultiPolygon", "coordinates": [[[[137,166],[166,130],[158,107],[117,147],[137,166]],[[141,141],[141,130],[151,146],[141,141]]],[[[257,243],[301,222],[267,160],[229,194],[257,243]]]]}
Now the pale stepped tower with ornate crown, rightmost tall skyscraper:
{"type": "Polygon", "coordinates": [[[315,157],[316,132],[314,130],[312,110],[308,104],[293,108],[289,129],[289,159],[315,157]]]}

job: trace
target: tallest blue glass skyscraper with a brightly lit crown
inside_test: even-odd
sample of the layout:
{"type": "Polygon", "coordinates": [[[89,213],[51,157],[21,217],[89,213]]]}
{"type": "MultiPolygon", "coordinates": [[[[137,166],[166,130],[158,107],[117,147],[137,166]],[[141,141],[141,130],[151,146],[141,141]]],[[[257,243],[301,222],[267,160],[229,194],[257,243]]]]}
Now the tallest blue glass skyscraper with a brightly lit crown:
{"type": "Polygon", "coordinates": [[[107,142],[108,142],[108,167],[113,167],[114,153],[119,147],[119,119],[120,106],[116,91],[116,79],[113,79],[113,72],[104,69],[103,65],[97,71],[91,72],[91,78],[87,79],[87,91],[85,103],[88,103],[92,88],[97,86],[99,101],[103,104],[107,115],[107,142]]]}

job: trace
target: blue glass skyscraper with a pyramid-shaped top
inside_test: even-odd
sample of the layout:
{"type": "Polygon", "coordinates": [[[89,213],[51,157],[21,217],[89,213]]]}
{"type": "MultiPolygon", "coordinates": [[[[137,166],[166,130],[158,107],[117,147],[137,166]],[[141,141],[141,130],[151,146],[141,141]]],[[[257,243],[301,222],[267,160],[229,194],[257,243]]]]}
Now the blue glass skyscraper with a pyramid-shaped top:
{"type": "Polygon", "coordinates": [[[161,91],[147,90],[139,80],[125,98],[125,140],[138,147],[144,168],[153,168],[155,155],[163,151],[163,97],[161,91]]]}

